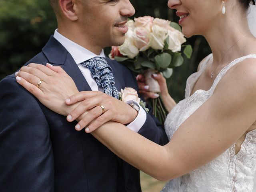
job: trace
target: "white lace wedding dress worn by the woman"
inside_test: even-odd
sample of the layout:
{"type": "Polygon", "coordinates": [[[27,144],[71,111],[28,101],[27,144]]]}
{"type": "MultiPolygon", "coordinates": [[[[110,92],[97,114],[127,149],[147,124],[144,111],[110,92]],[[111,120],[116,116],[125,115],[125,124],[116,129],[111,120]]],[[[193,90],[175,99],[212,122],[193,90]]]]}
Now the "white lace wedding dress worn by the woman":
{"type": "MultiPolygon", "coordinates": [[[[180,101],[166,118],[165,130],[169,140],[178,127],[210,98],[226,72],[246,58],[256,58],[256,54],[234,60],[220,71],[209,90],[197,90],[190,96],[196,80],[205,70],[207,63],[210,63],[208,61],[212,59],[212,54],[206,58],[200,70],[188,78],[185,99],[180,101]]],[[[237,154],[234,147],[235,144],[208,164],[170,180],[162,192],[256,192],[256,130],[248,132],[237,154]]]]}

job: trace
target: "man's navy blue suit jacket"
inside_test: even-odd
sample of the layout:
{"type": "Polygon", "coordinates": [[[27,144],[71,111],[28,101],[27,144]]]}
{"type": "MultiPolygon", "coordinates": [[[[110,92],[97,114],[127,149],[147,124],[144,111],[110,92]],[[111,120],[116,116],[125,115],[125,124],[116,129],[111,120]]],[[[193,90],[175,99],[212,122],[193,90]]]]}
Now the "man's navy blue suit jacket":
{"type": "MultiPolygon", "coordinates": [[[[116,88],[133,87],[126,67],[107,58],[116,88]]],[[[91,90],[68,51],[53,37],[34,62],[61,66],[79,91],[91,90]]],[[[75,122],[43,106],[20,86],[14,74],[0,82],[0,191],[2,192],[139,192],[139,171],[118,158],[75,122]]],[[[168,142],[163,127],[149,113],[139,134],[168,142]]]]}

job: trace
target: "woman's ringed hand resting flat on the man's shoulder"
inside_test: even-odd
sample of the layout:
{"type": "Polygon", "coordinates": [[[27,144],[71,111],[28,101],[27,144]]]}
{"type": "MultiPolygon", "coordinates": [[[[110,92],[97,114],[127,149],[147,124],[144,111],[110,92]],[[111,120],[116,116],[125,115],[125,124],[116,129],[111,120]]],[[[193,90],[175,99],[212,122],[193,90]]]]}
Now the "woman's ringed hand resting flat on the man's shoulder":
{"type": "Polygon", "coordinates": [[[78,89],[72,78],[59,66],[30,63],[15,76],[20,85],[58,114],[67,116],[79,104],[65,104],[65,99],[78,93],[78,89]],[[41,84],[37,87],[39,82],[41,84]]]}

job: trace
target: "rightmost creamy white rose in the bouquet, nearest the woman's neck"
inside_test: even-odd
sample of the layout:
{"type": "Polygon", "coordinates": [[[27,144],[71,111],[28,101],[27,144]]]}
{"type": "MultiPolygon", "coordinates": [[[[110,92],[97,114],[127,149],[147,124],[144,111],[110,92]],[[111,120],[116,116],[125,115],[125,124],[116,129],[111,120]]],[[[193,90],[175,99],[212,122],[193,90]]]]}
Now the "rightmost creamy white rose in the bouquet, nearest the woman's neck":
{"type": "Polygon", "coordinates": [[[183,34],[178,30],[168,31],[169,36],[169,47],[168,49],[172,50],[172,52],[178,52],[181,50],[181,44],[186,42],[183,34]]]}

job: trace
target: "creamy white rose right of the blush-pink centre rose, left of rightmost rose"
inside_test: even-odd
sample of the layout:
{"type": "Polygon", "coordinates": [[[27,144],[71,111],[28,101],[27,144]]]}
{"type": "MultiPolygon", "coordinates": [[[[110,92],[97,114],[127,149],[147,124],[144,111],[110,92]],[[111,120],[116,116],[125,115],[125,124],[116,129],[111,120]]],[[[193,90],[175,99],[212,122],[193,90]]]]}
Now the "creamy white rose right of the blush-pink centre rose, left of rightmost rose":
{"type": "Polygon", "coordinates": [[[167,29],[154,25],[152,27],[152,33],[150,34],[150,46],[156,50],[163,49],[166,33],[167,29]]]}

